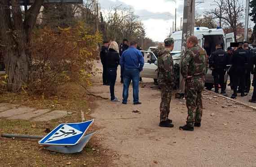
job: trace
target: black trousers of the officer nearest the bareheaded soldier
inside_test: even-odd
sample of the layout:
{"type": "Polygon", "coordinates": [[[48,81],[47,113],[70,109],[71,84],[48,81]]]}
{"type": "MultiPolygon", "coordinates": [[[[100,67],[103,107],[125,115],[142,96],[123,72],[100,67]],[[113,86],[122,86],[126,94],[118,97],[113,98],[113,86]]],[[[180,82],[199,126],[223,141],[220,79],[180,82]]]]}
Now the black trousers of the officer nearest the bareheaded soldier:
{"type": "Polygon", "coordinates": [[[219,84],[221,85],[221,92],[226,91],[227,86],[226,86],[226,83],[224,83],[225,73],[226,71],[224,69],[216,69],[212,71],[215,92],[219,91],[219,84]]]}

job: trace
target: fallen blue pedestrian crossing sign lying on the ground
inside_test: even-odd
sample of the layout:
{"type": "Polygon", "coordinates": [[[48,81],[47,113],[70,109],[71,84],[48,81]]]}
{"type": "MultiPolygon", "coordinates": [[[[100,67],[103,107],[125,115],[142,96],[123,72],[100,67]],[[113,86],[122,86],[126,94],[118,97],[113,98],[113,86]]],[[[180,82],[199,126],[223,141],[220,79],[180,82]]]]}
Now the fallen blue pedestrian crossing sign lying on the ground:
{"type": "Polygon", "coordinates": [[[60,124],[38,143],[40,145],[74,146],[79,143],[93,121],[60,124]]]}

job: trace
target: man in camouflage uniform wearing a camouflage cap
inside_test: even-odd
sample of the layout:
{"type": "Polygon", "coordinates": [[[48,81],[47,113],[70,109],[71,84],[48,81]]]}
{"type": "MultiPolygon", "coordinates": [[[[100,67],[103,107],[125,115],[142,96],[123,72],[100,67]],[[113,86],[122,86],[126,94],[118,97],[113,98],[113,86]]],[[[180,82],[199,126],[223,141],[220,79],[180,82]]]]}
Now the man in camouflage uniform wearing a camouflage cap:
{"type": "Polygon", "coordinates": [[[173,50],[174,40],[167,38],[164,40],[164,50],[155,50],[158,54],[158,84],[161,88],[160,103],[160,123],[161,127],[170,127],[172,120],[168,118],[170,113],[170,103],[172,99],[172,88],[174,87],[174,72],[171,51],[173,50]]]}

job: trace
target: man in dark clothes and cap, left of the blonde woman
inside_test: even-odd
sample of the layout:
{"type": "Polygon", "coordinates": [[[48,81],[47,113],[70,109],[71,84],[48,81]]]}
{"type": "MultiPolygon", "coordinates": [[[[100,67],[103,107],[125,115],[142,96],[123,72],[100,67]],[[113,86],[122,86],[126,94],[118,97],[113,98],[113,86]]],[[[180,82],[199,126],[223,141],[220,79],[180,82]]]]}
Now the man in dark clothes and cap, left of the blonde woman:
{"type": "Polygon", "coordinates": [[[104,43],[104,46],[102,46],[102,50],[100,53],[101,62],[103,66],[102,80],[103,80],[103,85],[108,85],[106,59],[107,59],[109,42],[105,40],[103,41],[103,43],[104,43]]]}

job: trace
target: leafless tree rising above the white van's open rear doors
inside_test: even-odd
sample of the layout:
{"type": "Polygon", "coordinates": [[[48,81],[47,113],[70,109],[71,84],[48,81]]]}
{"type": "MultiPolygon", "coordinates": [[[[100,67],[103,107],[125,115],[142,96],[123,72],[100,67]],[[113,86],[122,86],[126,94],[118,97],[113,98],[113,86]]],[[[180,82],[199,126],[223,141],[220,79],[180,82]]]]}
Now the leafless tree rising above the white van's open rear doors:
{"type": "Polygon", "coordinates": [[[224,21],[234,31],[235,41],[237,41],[237,25],[243,19],[243,2],[240,0],[213,0],[213,4],[217,8],[207,14],[213,14],[215,18],[220,19],[220,23],[221,20],[224,21]]]}

